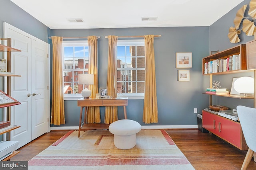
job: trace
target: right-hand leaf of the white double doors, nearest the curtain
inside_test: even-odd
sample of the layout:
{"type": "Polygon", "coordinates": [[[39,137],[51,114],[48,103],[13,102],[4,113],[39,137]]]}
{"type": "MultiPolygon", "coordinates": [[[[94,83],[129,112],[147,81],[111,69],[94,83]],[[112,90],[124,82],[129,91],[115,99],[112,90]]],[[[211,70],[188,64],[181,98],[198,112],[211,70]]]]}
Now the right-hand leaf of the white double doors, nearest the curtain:
{"type": "Polygon", "coordinates": [[[48,130],[48,44],[32,40],[32,140],[48,130]]]}

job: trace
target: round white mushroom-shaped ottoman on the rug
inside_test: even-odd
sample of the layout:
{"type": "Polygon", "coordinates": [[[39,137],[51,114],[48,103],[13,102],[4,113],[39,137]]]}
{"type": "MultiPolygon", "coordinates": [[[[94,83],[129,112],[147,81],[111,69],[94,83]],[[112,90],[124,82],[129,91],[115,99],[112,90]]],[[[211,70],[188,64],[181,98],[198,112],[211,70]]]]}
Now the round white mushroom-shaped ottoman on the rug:
{"type": "Polygon", "coordinates": [[[136,145],[136,133],[141,130],[141,125],[133,120],[122,119],[111,123],[108,130],[114,134],[114,145],[118,149],[131,149],[136,145]]]}

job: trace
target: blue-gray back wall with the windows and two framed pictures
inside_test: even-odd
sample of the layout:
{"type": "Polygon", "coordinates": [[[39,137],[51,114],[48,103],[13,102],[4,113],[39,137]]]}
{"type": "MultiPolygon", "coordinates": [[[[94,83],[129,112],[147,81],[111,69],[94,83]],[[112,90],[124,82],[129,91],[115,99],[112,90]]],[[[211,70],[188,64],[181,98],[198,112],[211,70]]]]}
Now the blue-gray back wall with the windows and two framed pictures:
{"type": "MultiPolygon", "coordinates": [[[[106,35],[162,35],[154,39],[158,123],[151,125],[196,125],[194,108],[202,110],[208,96],[202,94],[206,83],[202,76],[202,58],[209,54],[209,27],[153,27],[116,29],[52,29],[51,35],[78,37],[96,35],[98,39],[99,87],[106,86],[108,64],[108,39],[106,35]],[[192,68],[176,68],[176,52],[192,52],[192,68]],[[190,70],[189,82],[178,82],[178,70],[190,70]]],[[[128,100],[127,117],[141,125],[143,100],[128,100]]],[[[65,102],[66,125],[78,125],[76,101],[65,102]]],[[[101,108],[104,116],[104,108],[101,108]]],[[[118,117],[123,118],[122,107],[118,117]]],[[[104,120],[104,117],[102,117],[104,120]]]]}

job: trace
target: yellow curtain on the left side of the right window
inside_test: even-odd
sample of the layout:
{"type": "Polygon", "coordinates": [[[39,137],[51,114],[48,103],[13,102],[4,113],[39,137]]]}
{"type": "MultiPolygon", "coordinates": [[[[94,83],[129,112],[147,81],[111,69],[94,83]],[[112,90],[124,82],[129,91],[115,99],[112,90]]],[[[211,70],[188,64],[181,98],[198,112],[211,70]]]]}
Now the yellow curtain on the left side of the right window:
{"type": "MultiPolygon", "coordinates": [[[[107,93],[109,96],[116,98],[116,90],[114,89],[114,78],[117,75],[116,49],[118,36],[108,35],[108,76],[107,76],[107,93]]],[[[105,123],[110,124],[117,121],[117,106],[106,106],[105,123]]]]}

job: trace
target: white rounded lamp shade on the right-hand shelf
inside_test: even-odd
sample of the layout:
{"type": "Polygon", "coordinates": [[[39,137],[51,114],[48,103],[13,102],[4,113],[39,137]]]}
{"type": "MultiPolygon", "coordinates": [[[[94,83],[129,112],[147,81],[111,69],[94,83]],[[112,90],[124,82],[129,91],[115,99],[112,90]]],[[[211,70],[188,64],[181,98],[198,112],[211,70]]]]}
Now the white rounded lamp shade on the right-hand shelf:
{"type": "Polygon", "coordinates": [[[240,77],[234,82],[234,89],[241,94],[254,93],[254,78],[240,77]]]}

